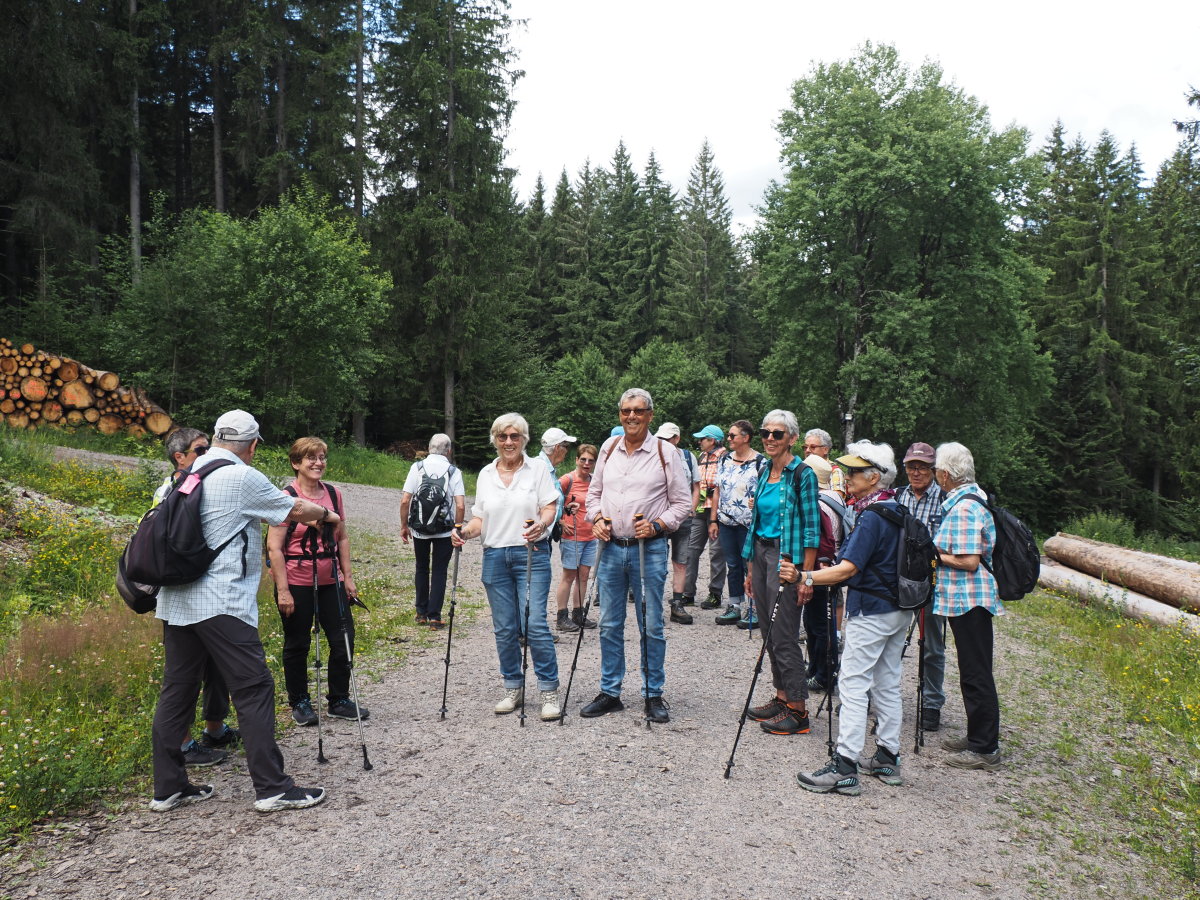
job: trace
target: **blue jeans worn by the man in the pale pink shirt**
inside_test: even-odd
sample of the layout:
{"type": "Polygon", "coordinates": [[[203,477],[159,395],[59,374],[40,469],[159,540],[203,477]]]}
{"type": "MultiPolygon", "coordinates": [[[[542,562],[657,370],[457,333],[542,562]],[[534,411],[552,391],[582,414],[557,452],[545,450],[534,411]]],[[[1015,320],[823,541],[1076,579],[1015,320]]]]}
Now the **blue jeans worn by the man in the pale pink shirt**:
{"type": "MultiPolygon", "coordinates": [[[[667,580],[667,540],[659,538],[644,542],[646,572],[638,572],[637,545],[622,547],[610,542],[600,557],[596,584],[600,596],[600,690],[611,697],[620,696],[625,678],[625,595],[634,593],[634,616],[642,630],[642,581],[646,582],[646,653],[647,684],[643,697],[661,697],[666,683],[667,638],[662,631],[662,587],[667,580]]],[[[638,656],[638,665],[641,665],[638,656]]]]}

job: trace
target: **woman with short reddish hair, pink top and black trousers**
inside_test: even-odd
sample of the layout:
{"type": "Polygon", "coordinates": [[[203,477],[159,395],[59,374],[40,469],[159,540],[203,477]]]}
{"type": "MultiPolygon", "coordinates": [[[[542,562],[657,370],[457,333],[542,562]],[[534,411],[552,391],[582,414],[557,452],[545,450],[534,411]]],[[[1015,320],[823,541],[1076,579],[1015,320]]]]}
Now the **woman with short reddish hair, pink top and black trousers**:
{"type": "MultiPolygon", "coordinates": [[[[329,644],[329,714],[337,719],[356,719],[366,708],[356,709],[350,700],[350,659],[346,653],[346,631],[354,652],[354,618],[350,616],[352,596],[358,596],[350,574],[350,541],[346,533],[346,508],[336,488],[325,485],[329,448],[320,438],[300,438],[288,450],[288,461],[295,469],[295,480],[284,490],[312,503],[331,509],[341,516],[334,527],[337,547],[337,575],[344,592],[337,599],[334,583],[334,553],[319,541],[313,558],[311,526],[281,524],[266,533],[266,552],[271,559],[276,604],[283,619],[283,683],[296,725],[316,725],[317,713],[308,696],[308,648],[312,643],[312,619],[317,614],[329,644]],[[336,498],[336,499],[335,499],[336,498]],[[317,568],[316,598],[312,589],[313,566],[317,568]]],[[[319,536],[319,533],[318,533],[319,536]]],[[[319,640],[319,638],[318,638],[319,640]]],[[[318,697],[318,702],[320,698],[318,697]]]]}

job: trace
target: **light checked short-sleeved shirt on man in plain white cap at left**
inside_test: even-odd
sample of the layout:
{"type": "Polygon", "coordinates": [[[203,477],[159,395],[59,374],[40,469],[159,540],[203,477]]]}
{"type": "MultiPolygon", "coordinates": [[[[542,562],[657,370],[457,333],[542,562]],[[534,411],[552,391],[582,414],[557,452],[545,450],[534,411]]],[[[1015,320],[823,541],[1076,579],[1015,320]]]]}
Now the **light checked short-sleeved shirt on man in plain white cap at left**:
{"type": "Polygon", "coordinates": [[[162,588],[155,616],[172,625],[194,625],[215,616],[233,616],[258,628],[258,583],[263,576],[259,523],[282,524],[295,499],[223,448],[211,448],[191,470],[216,460],[230,460],[234,464],[204,479],[200,522],[210,547],[229,542],[198,581],[162,588]]]}

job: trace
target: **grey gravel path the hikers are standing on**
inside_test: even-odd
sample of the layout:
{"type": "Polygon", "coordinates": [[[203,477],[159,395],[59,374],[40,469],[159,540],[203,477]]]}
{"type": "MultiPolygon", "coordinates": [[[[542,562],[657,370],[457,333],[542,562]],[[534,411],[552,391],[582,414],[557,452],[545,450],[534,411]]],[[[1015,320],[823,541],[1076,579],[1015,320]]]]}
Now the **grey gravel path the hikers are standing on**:
{"type": "MultiPolygon", "coordinates": [[[[409,572],[412,550],[396,535],[398,492],[341,487],[352,526],[382,535],[395,554],[356,560],[360,572],[397,559],[409,572]]],[[[540,721],[534,703],[524,727],[516,715],[494,715],[503,689],[480,562],[473,541],[462,556],[444,720],[445,632],[397,636],[409,648],[403,662],[362,661],[370,772],[354,722],[325,720],[329,763],[318,764],[316,728],[294,727],[281,713],[288,770],[298,784],[326,787],[324,804],[256,814],[238,754],[193,770],[193,781],[216,786],[206,803],[156,814],[148,797],[130,796],[124,805],[48,824],[0,858],[0,896],[1175,895],[1144,860],[1105,851],[1103,835],[1120,823],[1076,803],[1051,734],[1024,731],[1030,720],[1019,704],[1034,703],[1056,722],[1070,721],[1073,709],[1068,694],[1030,697],[1021,686],[1031,671],[1058,662],[1007,626],[1020,625],[1019,611],[996,629],[1000,772],[943,764],[940,738],[965,725],[952,644],[943,730],[919,754],[912,752],[916,654],[908,654],[904,786],[864,776],[860,797],[817,796],[797,786],[796,773],[826,762],[824,714],[798,737],[748,722],[732,776],[724,778],[760,642],[757,632],[716,626],[714,612],[695,608],[695,624],[667,625],[667,725],[648,728],[642,720],[632,617],[625,712],[578,716],[599,683],[599,632],[588,631],[565,724],[540,721]],[[1081,842],[1080,834],[1099,840],[1081,842]]],[[[412,602],[407,580],[396,602],[412,602]]],[[[575,647],[574,636],[558,643],[564,689],[575,647]]],[[[768,680],[769,670],[757,702],[768,680]]],[[[532,686],[530,677],[534,696],[532,686]]]]}

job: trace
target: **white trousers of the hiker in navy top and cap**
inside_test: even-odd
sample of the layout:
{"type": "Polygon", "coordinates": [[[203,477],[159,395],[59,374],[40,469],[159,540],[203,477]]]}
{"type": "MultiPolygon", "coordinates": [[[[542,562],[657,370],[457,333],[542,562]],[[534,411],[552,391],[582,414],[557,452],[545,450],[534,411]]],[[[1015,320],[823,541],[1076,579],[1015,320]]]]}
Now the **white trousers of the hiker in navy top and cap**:
{"type": "Polygon", "coordinates": [[[900,654],[912,613],[896,610],[878,616],[847,616],[846,646],[841,653],[838,695],[838,752],[857,760],[866,743],[868,692],[875,704],[878,727],[875,740],[893,754],[900,752],[900,654]]]}

